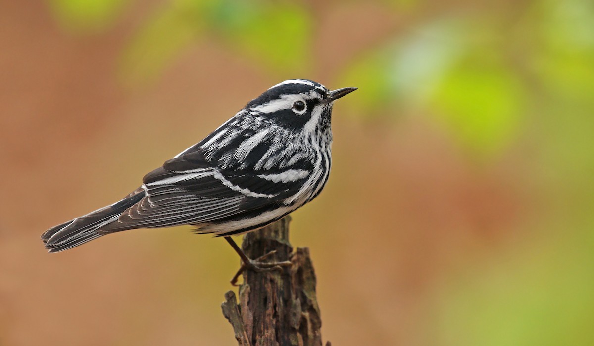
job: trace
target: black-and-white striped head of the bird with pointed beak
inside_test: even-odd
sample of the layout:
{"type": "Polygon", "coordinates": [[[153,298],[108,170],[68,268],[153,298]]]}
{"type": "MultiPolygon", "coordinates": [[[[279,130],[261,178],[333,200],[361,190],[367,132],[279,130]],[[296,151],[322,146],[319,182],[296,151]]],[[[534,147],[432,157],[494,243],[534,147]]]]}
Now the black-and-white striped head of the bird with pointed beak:
{"type": "Polygon", "coordinates": [[[356,89],[328,90],[312,80],[291,79],[251,100],[246,110],[290,131],[325,131],[330,128],[334,101],[356,89]]]}

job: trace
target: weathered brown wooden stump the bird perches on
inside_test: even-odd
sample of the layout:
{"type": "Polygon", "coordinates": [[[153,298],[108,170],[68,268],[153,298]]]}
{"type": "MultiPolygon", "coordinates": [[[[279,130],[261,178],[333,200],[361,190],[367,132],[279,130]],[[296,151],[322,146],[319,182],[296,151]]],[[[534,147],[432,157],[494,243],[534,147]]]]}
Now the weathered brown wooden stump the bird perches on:
{"type": "Polygon", "coordinates": [[[269,260],[290,260],[293,265],[270,272],[245,270],[239,305],[233,291],[225,294],[223,315],[240,346],[322,345],[314,266],[307,247],[292,252],[289,221],[287,216],[244,236],[241,247],[249,258],[276,250],[276,258],[269,260]]]}

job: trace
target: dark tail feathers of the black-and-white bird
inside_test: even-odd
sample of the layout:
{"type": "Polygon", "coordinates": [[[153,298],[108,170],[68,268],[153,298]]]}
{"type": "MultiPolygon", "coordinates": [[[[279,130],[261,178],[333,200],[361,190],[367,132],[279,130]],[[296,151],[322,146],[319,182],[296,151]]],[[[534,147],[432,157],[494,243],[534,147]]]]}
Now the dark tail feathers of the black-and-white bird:
{"type": "Polygon", "coordinates": [[[144,190],[137,188],[117,203],[48,229],[41,235],[41,240],[49,253],[56,253],[99,238],[103,234],[97,232],[98,229],[116,221],[126,209],[138,203],[143,197],[144,190]]]}

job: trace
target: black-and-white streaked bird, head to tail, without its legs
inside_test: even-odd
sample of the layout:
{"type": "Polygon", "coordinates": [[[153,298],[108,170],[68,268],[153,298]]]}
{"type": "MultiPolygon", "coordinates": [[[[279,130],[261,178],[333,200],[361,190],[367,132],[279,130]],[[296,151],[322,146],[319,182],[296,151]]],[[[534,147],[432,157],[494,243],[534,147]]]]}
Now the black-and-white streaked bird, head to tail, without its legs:
{"type": "Polygon", "coordinates": [[[194,225],[228,236],[277,221],[314,199],[330,173],[334,100],[311,80],[286,80],[249,102],[200,143],[143,178],[113,205],[42,234],[50,253],[112,232],[194,225]]]}

